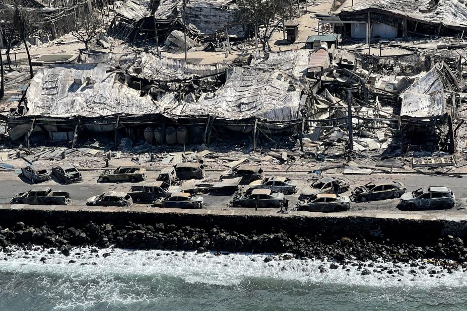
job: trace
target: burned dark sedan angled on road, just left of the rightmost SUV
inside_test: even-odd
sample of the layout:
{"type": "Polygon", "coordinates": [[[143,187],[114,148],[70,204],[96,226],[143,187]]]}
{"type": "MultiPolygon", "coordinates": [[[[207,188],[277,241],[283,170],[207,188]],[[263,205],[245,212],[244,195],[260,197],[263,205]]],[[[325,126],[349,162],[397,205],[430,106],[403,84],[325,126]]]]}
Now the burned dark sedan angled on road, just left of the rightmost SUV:
{"type": "Polygon", "coordinates": [[[399,198],[406,193],[404,184],[395,181],[369,182],[352,190],[351,198],[356,202],[366,202],[399,198]]]}

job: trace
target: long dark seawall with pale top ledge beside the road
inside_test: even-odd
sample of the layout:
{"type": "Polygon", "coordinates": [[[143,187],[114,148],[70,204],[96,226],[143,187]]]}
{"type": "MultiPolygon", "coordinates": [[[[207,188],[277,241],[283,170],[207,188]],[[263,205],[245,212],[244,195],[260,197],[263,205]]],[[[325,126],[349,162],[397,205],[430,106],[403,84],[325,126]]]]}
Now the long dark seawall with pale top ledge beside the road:
{"type": "MultiPolygon", "coordinates": [[[[188,226],[210,230],[213,227],[243,235],[286,232],[289,236],[320,235],[323,240],[364,238],[369,241],[433,244],[440,237],[467,237],[464,214],[343,212],[337,214],[269,210],[175,210],[155,208],[116,208],[84,206],[0,206],[0,226],[13,228],[17,222],[34,227],[81,228],[93,222],[124,228],[129,223],[176,228],[188,226]]],[[[138,247],[138,245],[135,245],[138,247]]]]}

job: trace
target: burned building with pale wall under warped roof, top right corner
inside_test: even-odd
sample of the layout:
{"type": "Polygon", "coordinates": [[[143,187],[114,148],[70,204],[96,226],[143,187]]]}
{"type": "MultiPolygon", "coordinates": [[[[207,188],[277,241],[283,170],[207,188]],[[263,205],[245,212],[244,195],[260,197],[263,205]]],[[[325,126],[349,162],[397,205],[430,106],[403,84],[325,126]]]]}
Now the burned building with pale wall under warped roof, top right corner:
{"type": "Polygon", "coordinates": [[[467,8],[459,0],[364,0],[338,11],[336,31],[348,38],[459,36],[467,27],[467,8]],[[369,27],[368,27],[369,25],[369,27]]]}

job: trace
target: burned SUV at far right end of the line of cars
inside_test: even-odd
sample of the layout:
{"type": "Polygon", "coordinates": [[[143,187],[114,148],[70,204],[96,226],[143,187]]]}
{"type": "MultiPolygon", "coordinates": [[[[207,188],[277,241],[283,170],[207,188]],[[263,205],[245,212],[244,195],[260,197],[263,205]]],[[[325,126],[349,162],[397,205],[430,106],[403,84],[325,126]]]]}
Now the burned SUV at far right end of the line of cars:
{"type": "Polygon", "coordinates": [[[447,187],[424,187],[404,193],[401,205],[409,209],[450,208],[455,205],[455,196],[447,187]]]}

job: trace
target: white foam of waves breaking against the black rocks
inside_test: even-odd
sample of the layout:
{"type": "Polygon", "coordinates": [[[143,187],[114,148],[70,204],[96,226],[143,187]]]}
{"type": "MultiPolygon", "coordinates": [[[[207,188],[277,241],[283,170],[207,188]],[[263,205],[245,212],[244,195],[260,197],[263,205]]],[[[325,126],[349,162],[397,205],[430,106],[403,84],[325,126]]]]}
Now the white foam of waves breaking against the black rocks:
{"type": "MultiPolygon", "coordinates": [[[[48,254],[48,250],[25,251],[15,248],[0,253],[0,273],[13,272],[16,275],[34,275],[39,286],[54,288],[48,290],[57,301],[58,307],[90,306],[104,301],[112,304],[126,304],[131,301],[154,300],[169,297],[172,289],[164,286],[148,286],[167,278],[177,278],[185,284],[209,284],[220,286],[241,286],[243,281],[252,279],[268,282],[271,280],[297,281],[304,285],[331,283],[342,286],[376,287],[420,287],[436,286],[467,287],[467,273],[462,269],[452,274],[441,271],[431,263],[424,263],[426,269],[410,267],[408,264],[376,263],[367,268],[370,275],[362,275],[357,266],[347,265],[329,269],[330,263],[319,260],[273,260],[264,262],[268,255],[229,254],[215,256],[211,253],[170,251],[128,251],[101,249],[90,253],[88,248],[75,248],[68,257],[62,254],[48,254]],[[10,253],[11,256],[7,256],[10,253]],[[81,255],[75,255],[81,253],[81,255]],[[111,255],[104,258],[105,253],[111,255]],[[98,257],[96,257],[98,255],[98,257]],[[26,258],[23,258],[26,257],[26,258]],[[40,259],[45,257],[45,263],[40,259]],[[69,263],[71,260],[75,263],[69,263]],[[376,266],[398,269],[403,275],[373,272],[376,266]],[[324,268],[324,272],[320,272],[324,268]],[[414,276],[409,271],[415,270],[414,276]],[[439,271],[430,276],[432,270],[439,271]],[[442,275],[444,274],[444,275],[442,275]],[[87,297],[83,299],[82,297],[87,297]]],[[[274,256],[272,256],[274,258],[274,256]]],[[[366,264],[368,264],[367,262],[366,264]]],[[[166,284],[170,282],[165,282],[166,284]]],[[[170,286],[170,285],[167,285],[170,286]]]]}

